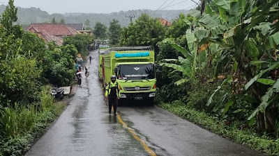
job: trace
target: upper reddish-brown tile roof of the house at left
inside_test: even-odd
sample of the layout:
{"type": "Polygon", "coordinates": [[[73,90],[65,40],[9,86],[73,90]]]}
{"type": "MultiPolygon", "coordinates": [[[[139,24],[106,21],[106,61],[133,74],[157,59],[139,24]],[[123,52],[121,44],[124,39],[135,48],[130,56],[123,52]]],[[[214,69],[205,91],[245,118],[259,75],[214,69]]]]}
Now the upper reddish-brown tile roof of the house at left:
{"type": "Polygon", "coordinates": [[[77,35],[78,32],[70,26],[65,24],[30,24],[27,27],[27,31],[30,31],[31,28],[36,28],[37,31],[45,31],[49,35],[54,36],[67,36],[67,35],[77,35]]]}

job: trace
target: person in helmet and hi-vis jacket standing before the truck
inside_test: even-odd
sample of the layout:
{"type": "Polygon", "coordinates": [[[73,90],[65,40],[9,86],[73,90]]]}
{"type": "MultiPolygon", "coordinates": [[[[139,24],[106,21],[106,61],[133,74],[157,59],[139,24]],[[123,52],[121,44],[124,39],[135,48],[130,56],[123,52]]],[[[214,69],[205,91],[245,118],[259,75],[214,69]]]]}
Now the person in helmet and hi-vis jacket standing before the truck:
{"type": "Polygon", "coordinates": [[[109,100],[109,113],[112,113],[114,106],[114,115],[116,115],[117,100],[120,98],[119,85],[116,82],[116,76],[110,77],[110,83],[105,87],[105,98],[109,100]]]}

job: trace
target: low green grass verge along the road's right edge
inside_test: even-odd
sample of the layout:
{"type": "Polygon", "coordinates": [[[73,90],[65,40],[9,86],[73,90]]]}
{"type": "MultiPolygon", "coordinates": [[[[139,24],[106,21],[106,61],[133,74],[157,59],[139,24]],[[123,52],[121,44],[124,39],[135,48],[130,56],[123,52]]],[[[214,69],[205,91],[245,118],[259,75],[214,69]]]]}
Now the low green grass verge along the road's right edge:
{"type": "Polygon", "coordinates": [[[180,101],[159,103],[158,106],[206,130],[232,139],[236,143],[248,146],[254,150],[262,151],[269,155],[279,155],[279,139],[270,139],[266,136],[260,137],[257,133],[249,129],[239,130],[236,124],[226,125],[225,123],[220,123],[218,119],[213,118],[213,116],[194,110],[180,101]]]}

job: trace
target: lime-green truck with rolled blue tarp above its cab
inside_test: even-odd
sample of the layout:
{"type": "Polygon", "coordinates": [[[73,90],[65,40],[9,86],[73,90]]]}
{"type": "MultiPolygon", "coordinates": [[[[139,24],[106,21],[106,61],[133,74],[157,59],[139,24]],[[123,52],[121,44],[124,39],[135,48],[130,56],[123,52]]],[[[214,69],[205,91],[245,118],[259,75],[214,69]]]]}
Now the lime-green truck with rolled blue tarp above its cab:
{"type": "Polygon", "coordinates": [[[100,55],[100,80],[103,89],[115,75],[121,102],[147,101],[156,96],[156,69],[151,46],[112,47],[100,55]]]}

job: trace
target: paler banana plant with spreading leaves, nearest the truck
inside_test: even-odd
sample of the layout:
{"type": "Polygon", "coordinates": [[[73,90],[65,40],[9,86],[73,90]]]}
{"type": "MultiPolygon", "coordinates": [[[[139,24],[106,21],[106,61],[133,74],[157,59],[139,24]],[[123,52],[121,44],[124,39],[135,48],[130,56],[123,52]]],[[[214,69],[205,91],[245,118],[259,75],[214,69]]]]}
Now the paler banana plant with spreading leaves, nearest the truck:
{"type": "MultiPolygon", "coordinates": [[[[206,21],[206,18],[200,19],[200,17],[199,11],[190,10],[187,18],[184,19],[184,22],[189,25],[189,29],[184,35],[187,42],[185,48],[179,46],[179,44],[176,44],[175,40],[173,39],[166,39],[163,41],[171,44],[172,47],[179,51],[184,57],[171,60],[165,59],[161,64],[183,73],[184,78],[177,81],[176,85],[181,85],[182,83],[187,82],[189,79],[195,78],[197,68],[204,69],[206,67],[206,58],[212,58],[211,52],[213,51],[213,53],[216,53],[216,51],[220,49],[217,43],[209,44],[210,37],[220,34],[216,32],[216,29],[218,26],[220,26],[220,19],[206,21]],[[206,25],[202,23],[202,21],[207,22],[206,24],[209,24],[213,30],[207,29],[206,25]]],[[[211,63],[207,64],[210,65],[211,63]]]]}

